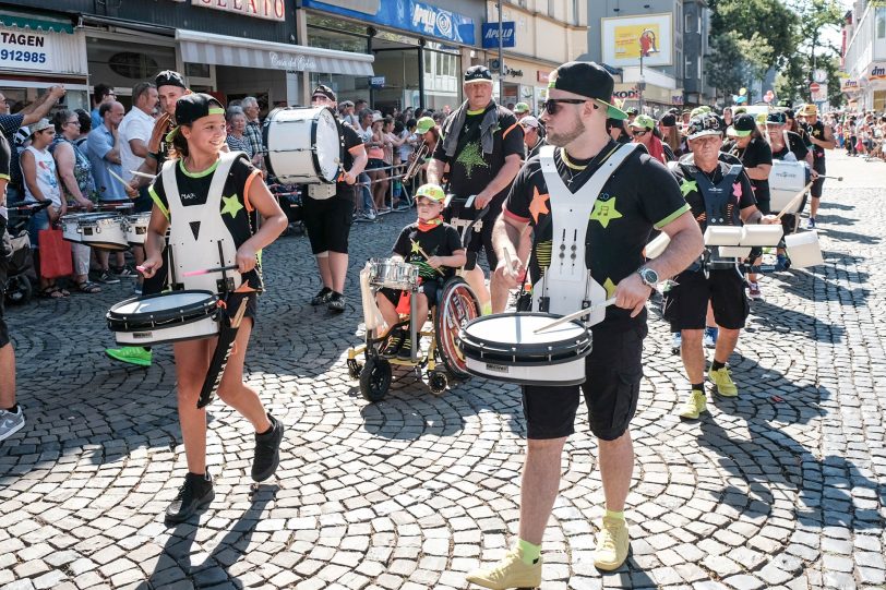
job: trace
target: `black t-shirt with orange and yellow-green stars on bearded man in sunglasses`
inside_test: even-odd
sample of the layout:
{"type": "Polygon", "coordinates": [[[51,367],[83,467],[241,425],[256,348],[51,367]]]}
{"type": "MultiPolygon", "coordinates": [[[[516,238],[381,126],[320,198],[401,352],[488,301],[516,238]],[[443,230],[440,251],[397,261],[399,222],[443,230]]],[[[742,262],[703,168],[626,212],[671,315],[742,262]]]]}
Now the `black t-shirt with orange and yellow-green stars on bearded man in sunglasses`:
{"type": "MultiPolygon", "coordinates": [[[[572,166],[563,161],[562,148],[556,148],[554,162],[560,177],[575,192],[619,146],[610,141],[590,160],[570,159],[572,166]],[[582,166],[586,168],[578,170],[582,166]]],[[[536,231],[530,262],[531,276],[536,279],[541,276],[542,267],[551,262],[553,224],[549,218],[549,200],[540,159],[531,158],[514,180],[504,203],[504,215],[529,222],[536,231]]],[[[585,261],[594,280],[611,297],[619,281],[643,266],[643,249],[652,229],[662,228],[687,210],[689,205],[668,169],[648,154],[635,150],[606,182],[588,220],[585,261]]],[[[632,318],[631,310],[613,305],[607,310],[604,324],[627,325],[645,321],[645,312],[632,318]]]]}

